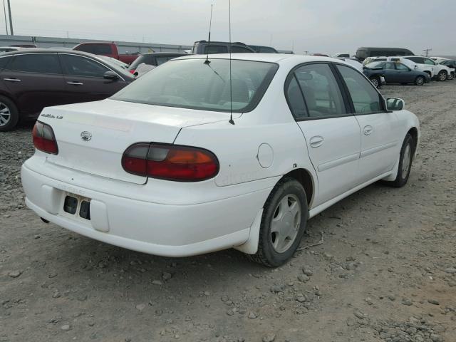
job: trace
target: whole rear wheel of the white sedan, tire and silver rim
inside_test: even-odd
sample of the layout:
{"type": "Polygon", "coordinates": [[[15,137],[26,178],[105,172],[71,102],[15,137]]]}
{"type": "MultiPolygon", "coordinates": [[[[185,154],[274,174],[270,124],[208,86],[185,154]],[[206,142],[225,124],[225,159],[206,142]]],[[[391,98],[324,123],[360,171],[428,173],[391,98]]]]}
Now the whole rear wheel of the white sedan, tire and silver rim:
{"type": "Polygon", "coordinates": [[[250,259],[269,267],[284,264],[298,248],[308,216],[301,183],[291,177],[280,180],[264,204],[258,251],[250,259]]]}

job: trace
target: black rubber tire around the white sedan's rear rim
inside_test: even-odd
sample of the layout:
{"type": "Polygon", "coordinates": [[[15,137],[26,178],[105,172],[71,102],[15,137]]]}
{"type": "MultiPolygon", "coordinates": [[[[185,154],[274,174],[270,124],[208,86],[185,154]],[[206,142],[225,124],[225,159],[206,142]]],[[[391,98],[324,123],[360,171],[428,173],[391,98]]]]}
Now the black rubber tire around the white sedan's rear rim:
{"type": "Polygon", "coordinates": [[[307,207],[307,197],[304,187],[294,178],[284,177],[276,184],[271,194],[269,194],[268,199],[266,199],[263,216],[261,217],[258,251],[257,254],[249,255],[249,259],[268,267],[277,267],[285,264],[286,261],[293,257],[294,252],[296,252],[301,242],[302,236],[306,231],[308,217],[309,209],[307,207]],[[284,252],[277,252],[274,249],[271,237],[271,234],[274,234],[271,233],[271,221],[274,218],[274,214],[279,210],[281,200],[289,195],[299,200],[297,204],[301,208],[301,222],[299,222],[293,243],[284,252]]]}

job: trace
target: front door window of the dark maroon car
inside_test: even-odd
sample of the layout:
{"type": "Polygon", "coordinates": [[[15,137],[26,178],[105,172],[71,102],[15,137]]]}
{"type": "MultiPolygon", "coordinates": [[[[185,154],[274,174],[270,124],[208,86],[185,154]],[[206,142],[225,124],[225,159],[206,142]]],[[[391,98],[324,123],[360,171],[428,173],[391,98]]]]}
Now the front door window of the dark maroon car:
{"type": "Polygon", "coordinates": [[[109,71],[102,64],[83,56],[60,54],[60,58],[65,75],[103,78],[109,71]]]}

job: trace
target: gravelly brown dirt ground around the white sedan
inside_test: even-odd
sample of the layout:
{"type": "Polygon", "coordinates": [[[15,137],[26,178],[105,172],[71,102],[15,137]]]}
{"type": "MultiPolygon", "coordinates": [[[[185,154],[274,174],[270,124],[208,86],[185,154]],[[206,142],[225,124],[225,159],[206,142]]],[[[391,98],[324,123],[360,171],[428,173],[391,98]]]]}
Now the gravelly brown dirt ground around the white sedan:
{"type": "Polygon", "coordinates": [[[456,341],[456,81],[387,86],[421,120],[407,186],[309,222],[279,269],[168,259],[44,224],[24,206],[31,127],[0,135],[0,341],[456,341]]]}

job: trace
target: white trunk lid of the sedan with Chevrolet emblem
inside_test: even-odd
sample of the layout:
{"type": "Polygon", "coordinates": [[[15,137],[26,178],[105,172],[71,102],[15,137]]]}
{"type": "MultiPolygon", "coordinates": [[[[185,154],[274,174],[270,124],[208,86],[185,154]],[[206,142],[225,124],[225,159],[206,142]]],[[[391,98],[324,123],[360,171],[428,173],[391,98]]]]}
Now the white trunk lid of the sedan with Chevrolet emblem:
{"type": "Polygon", "coordinates": [[[181,128],[228,120],[227,113],[163,107],[118,100],[44,108],[38,120],[51,125],[58,155],[53,164],[124,182],[144,184],[147,177],[123,170],[123,152],[137,142],[169,143],[181,128]]]}

